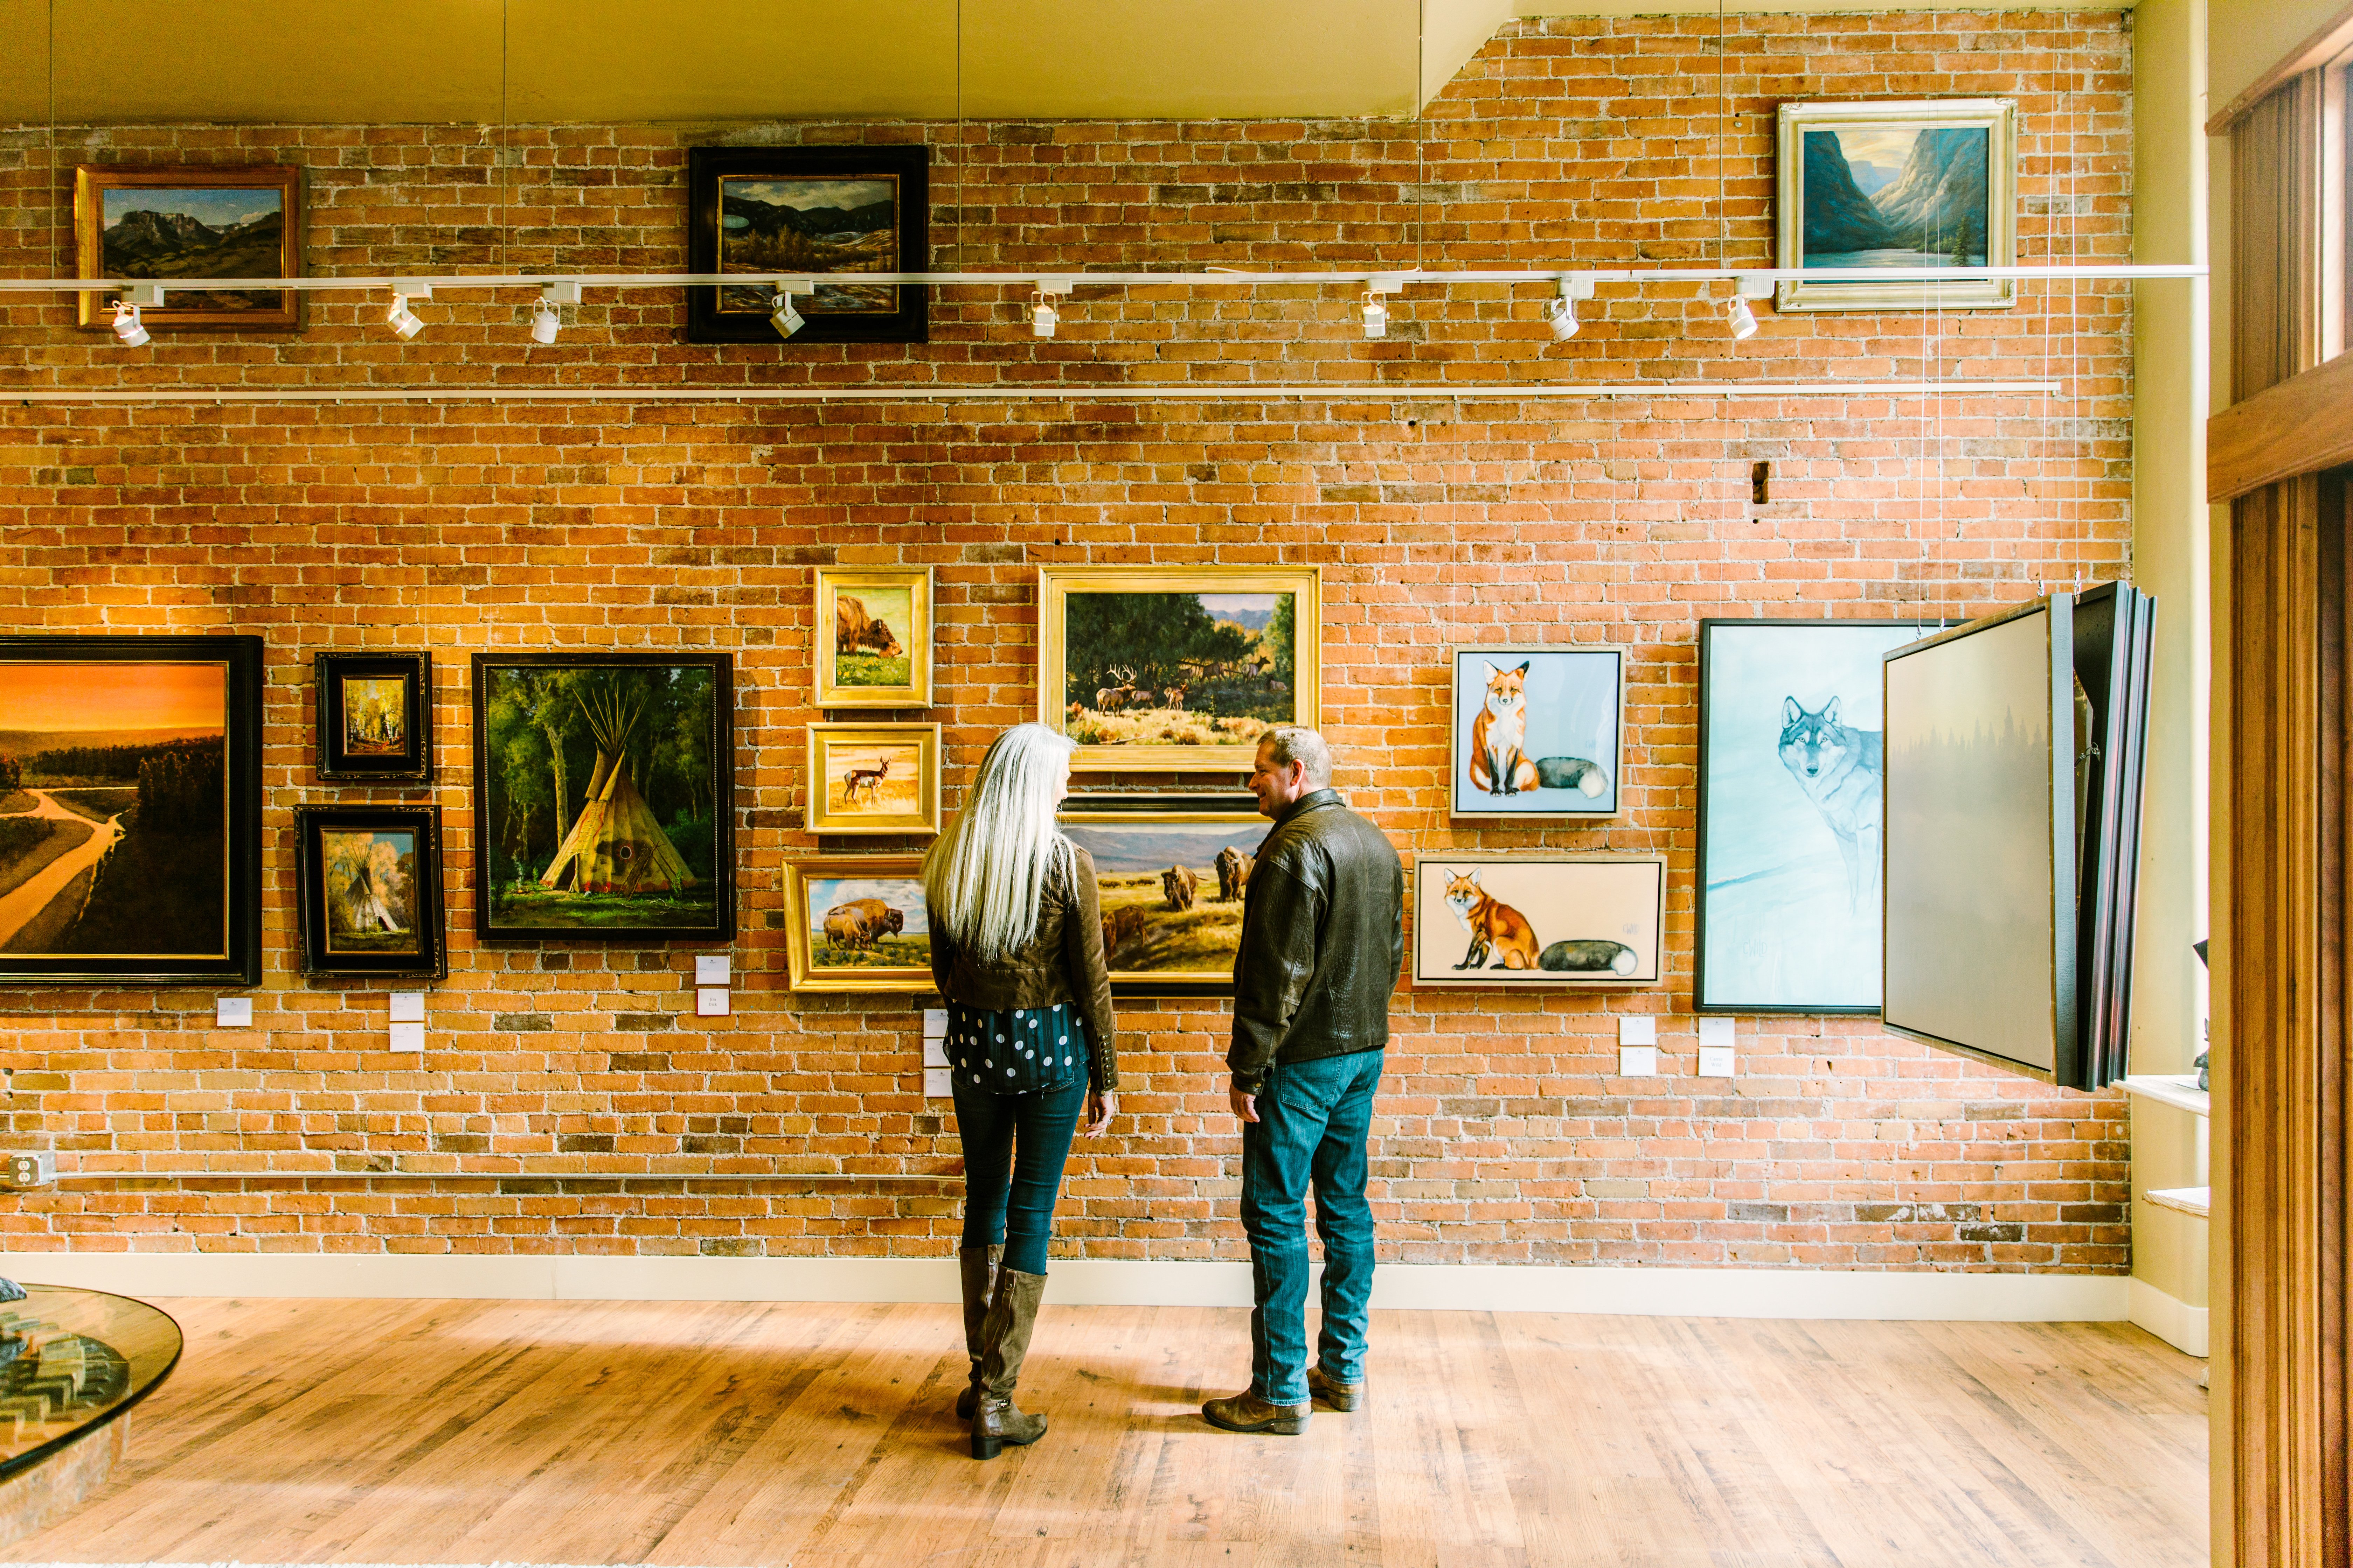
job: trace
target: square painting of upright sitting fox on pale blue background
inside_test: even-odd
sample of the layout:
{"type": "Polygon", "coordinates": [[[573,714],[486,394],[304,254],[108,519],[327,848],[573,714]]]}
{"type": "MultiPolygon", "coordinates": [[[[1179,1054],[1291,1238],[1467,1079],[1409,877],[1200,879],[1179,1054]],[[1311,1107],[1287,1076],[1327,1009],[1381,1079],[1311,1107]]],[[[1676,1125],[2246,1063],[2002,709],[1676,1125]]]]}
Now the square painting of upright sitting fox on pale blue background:
{"type": "Polygon", "coordinates": [[[1617,816],[1621,649],[1454,649],[1452,816],[1617,816]]]}

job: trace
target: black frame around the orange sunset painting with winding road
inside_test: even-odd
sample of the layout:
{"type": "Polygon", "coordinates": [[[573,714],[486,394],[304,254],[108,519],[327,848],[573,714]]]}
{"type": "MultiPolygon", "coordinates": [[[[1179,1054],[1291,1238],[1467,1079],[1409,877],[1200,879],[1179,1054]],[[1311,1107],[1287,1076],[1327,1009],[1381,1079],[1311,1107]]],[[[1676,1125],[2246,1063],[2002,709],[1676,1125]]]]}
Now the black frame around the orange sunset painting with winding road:
{"type": "Polygon", "coordinates": [[[0,985],[224,985],[261,983],[261,637],[0,637],[7,663],[224,663],[228,668],[224,954],[71,959],[0,954],[0,985]]]}

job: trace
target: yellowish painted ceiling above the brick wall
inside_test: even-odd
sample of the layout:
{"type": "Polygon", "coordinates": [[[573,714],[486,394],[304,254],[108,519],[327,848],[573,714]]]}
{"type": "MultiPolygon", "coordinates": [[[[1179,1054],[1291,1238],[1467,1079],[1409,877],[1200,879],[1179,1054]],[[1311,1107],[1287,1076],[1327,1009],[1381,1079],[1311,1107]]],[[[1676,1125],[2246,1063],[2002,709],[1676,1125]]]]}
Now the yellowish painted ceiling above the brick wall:
{"type": "Polygon", "coordinates": [[[1638,12],[1715,0],[0,0],[0,122],[1412,115],[1511,16],[1638,12]]]}

